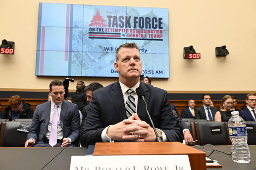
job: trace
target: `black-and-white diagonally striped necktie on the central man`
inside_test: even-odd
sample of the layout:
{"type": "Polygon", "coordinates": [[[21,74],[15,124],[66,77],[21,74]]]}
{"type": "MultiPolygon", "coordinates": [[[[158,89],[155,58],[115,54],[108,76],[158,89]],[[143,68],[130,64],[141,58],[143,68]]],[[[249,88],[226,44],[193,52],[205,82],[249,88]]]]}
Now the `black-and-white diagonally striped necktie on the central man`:
{"type": "Polygon", "coordinates": [[[133,113],[136,113],[136,105],[135,105],[135,98],[133,97],[134,90],[128,89],[126,92],[128,92],[128,96],[126,98],[126,116],[129,118],[133,115],[133,113]]]}

